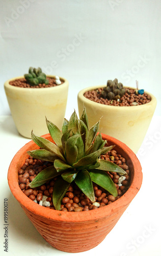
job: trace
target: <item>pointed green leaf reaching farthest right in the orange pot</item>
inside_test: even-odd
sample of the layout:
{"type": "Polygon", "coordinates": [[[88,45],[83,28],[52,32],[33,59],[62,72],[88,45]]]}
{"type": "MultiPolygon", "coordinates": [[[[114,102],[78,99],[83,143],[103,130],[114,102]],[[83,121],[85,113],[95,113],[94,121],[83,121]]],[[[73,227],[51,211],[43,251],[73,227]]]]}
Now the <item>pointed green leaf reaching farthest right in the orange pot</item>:
{"type": "Polygon", "coordinates": [[[110,161],[106,161],[103,159],[99,159],[100,165],[96,167],[96,169],[105,170],[106,172],[115,172],[119,173],[121,175],[127,175],[125,170],[123,170],[121,167],[119,167],[117,164],[112,163],[110,161]]]}

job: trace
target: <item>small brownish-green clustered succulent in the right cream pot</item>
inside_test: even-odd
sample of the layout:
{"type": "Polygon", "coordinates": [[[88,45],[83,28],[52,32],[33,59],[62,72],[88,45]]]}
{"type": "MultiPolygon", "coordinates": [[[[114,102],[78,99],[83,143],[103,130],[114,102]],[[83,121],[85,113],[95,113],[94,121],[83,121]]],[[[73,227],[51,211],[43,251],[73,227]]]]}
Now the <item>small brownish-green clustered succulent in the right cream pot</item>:
{"type": "Polygon", "coordinates": [[[121,82],[118,83],[117,78],[115,78],[113,81],[107,81],[107,86],[103,88],[101,96],[104,99],[107,98],[109,100],[117,100],[120,99],[125,92],[126,90],[123,88],[123,84],[121,82]]]}

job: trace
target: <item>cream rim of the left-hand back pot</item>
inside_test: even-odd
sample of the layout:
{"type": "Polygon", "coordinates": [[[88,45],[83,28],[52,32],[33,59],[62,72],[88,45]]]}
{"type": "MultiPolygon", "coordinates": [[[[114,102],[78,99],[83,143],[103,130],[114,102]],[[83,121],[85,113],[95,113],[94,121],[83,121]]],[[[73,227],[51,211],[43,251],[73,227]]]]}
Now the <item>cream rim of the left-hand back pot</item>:
{"type": "MultiPolygon", "coordinates": [[[[46,77],[55,78],[55,76],[53,76],[53,75],[46,75],[46,77]]],[[[56,90],[56,91],[57,91],[57,90],[60,90],[60,89],[62,90],[63,87],[66,87],[66,86],[68,86],[68,84],[69,84],[68,80],[65,79],[65,78],[63,78],[63,77],[61,77],[61,76],[59,76],[59,78],[60,78],[60,80],[61,80],[63,83],[60,84],[59,86],[55,86],[55,87],[47,87],[47,88],[21,88],[21,87],[11,86],[11,84],[9,84],[10,81],[13,81],[13,80],[15,80],[15,79],[21,79],[21,78],[24,78],[24,76],[17,76],[17,77],[10,78],[10,79],[8,79],[8,80],[4,83],[4,86],[5,86],[6,88],[12,89],[12,90],[14,90],[14,91],[24,91],[24,90],[28,90],[28,92],[29,92],[29,91],[32,91],[32,93],[33,93],[33,92],[35,92],[35,90],[36,90],[36,92],[42,91],[42,90],[43,90],[43,92],[44,92],[44,90],[46,90],[46,91],[51,91],[51,90],[56,90]]]]}

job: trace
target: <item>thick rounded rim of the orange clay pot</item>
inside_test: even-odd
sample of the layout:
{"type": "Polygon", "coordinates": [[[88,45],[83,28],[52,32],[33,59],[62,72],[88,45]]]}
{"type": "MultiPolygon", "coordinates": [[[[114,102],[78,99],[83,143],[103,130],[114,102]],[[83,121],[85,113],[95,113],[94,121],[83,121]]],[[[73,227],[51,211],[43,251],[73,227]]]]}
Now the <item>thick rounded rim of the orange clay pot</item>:
{"type": "MultiPolygon", "coordinates": [[[[43,135],[42,137],[52,141],[49,134],[43,135]]],[[[13,196],[17,199],[17,201],[21,205],[23,205],[25,208],[27,208],[29,211],[33,212],[34,214],[51,219],[51,220],[64,221],[64,222],[83,222],[83,221],[98,220],[98,219],[104,218],[105,216],[115,214],[115,212],[117,212],[121,207],[124,207],[126,205],[128,206],[131,200],[137,195],[142,184],[143,176],[142,176],[141,164],[137,156],[135,155],[135,153],[133,153],[130,150],[130,148],[127,145],[125,145],[123,142],[104,134],[102,134],[102,138],[109,141],[110,144],[116,145],[116,150],[118,152],[123,150],[123,153],[124,153],[123,157],[125,158],[128,157],[130,159],[132,168],[134,168],[133,179],[130,187],[128,188],[128,190],[123,196],[121,196],[118,200],[116,200],[112,204],[106,205],[104,207],[101,207],[95,210],[82,211],[82,212],[64,212],[64,211],[53,210],[53,209],[40,206],[39,204],[33,202],[31,199],[26,197],[18,185],[17,165],[18,165],[19,159],[23,159],[23,163],[25,162],[25,159],[28,158],[28,154],[26,152],[28,150],[31,150],[30,149],[31,147],[34,146],[34,149],[38,148],[38,146],[33,141],[26,143],[16,153],[16,155],[12,159],[11,164],[9,166],[8,183],[13,196]]]]}

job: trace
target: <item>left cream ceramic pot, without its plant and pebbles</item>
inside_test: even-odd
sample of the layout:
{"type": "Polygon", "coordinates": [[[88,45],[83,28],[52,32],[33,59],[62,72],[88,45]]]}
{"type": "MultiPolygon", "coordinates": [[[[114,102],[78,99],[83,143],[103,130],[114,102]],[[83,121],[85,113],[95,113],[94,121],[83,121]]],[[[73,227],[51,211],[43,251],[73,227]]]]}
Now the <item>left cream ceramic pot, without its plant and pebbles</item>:
{"type": "Polygon", "coordinates": [[[48,133],[45,116],[61,129],[66,111],[68,81],[60,77],[64,82],[60,86],[40,89],[18,88],[9,84],[18,78],[23,76],[9,79],[4,84],[18,132],[27,138],[31,138],[32,130],[38,136],[48,133]]]}

